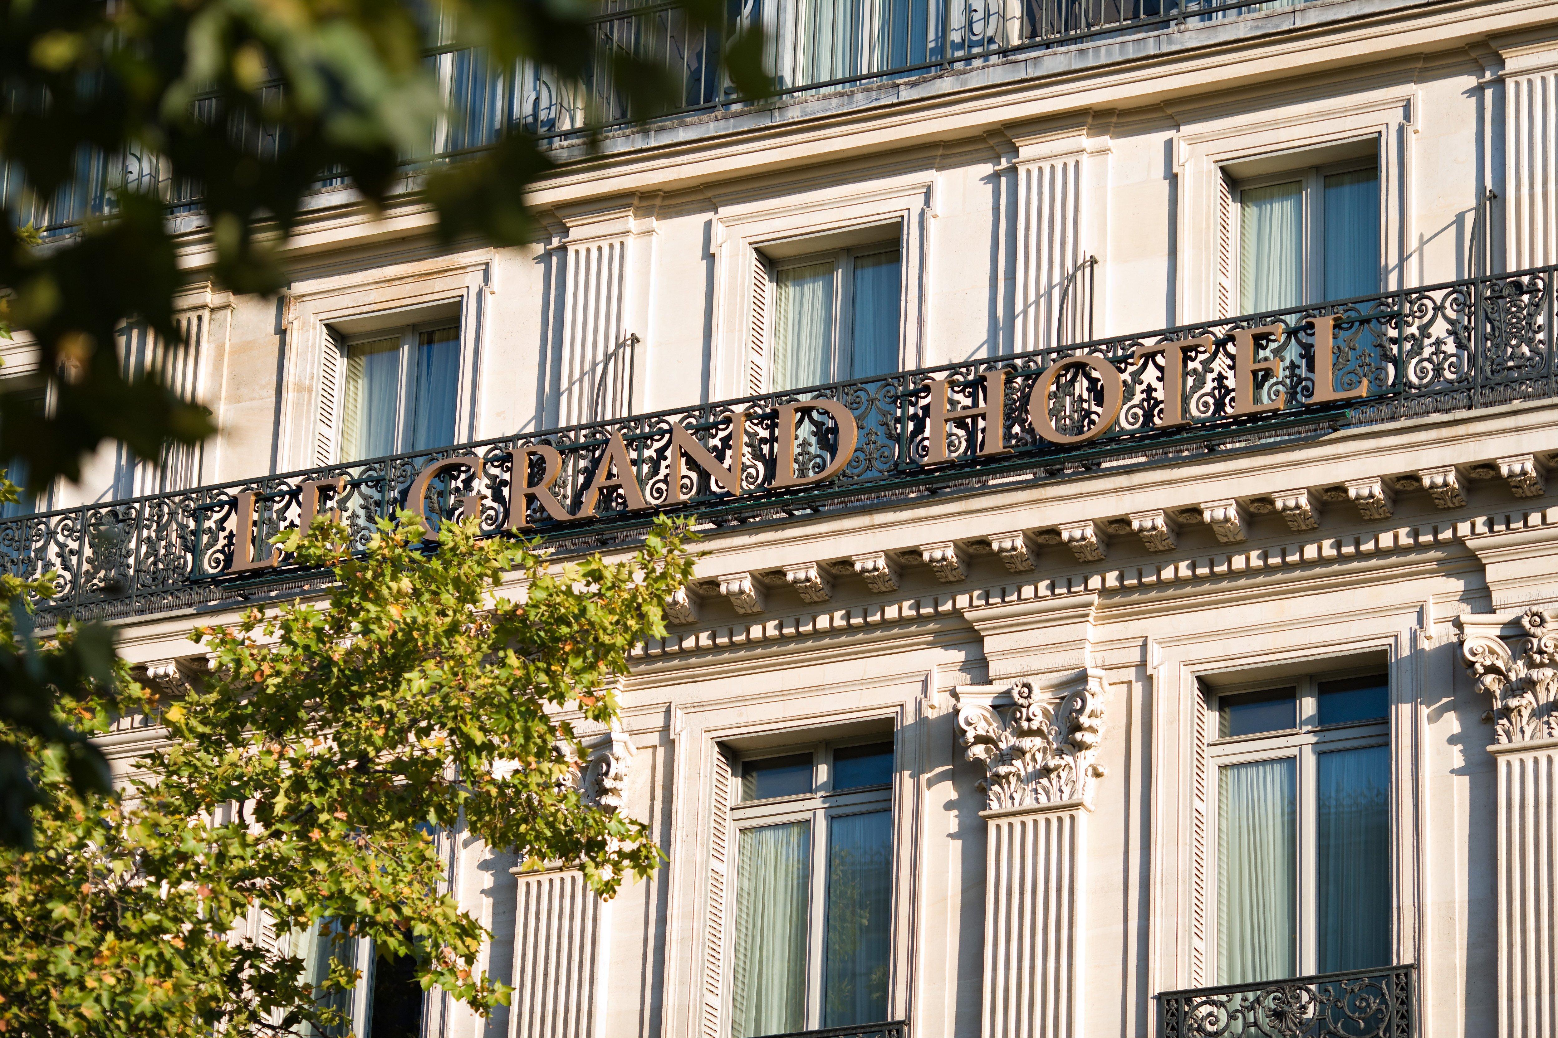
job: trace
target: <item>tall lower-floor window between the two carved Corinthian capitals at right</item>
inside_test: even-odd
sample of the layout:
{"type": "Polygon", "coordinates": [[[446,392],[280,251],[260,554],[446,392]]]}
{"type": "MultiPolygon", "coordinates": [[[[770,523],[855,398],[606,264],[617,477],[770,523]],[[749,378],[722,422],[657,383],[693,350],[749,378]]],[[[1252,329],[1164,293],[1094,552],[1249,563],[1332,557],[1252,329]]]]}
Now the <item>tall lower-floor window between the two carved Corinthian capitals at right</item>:
{"type": "Polygon", "coordinates": [[[1217,982],[1390,965],[1382,674],[1218,691],[1217,982]]]}

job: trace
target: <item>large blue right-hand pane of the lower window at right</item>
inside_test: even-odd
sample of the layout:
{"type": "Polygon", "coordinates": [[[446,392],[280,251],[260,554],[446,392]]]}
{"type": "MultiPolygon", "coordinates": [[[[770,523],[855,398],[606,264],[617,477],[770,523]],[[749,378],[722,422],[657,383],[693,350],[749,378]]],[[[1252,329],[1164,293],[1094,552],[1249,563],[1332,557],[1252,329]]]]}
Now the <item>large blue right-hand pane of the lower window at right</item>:
{"type": "Polygon", "coordinates": [[[1320,755],[1320,971],[1390,965],[1390,747],[1320,755]]]}

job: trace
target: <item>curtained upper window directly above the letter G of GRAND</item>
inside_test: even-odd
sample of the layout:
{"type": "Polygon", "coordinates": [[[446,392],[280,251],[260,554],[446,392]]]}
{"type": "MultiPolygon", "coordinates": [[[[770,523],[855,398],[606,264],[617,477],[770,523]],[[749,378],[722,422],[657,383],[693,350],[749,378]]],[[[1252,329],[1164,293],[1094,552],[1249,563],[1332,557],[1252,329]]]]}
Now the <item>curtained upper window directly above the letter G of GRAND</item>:
{"type": "Polygon", "coordinates": [[[375,331],[349,339],[341,355],[338,461],[455,442],[458,327],[375,331]]]}

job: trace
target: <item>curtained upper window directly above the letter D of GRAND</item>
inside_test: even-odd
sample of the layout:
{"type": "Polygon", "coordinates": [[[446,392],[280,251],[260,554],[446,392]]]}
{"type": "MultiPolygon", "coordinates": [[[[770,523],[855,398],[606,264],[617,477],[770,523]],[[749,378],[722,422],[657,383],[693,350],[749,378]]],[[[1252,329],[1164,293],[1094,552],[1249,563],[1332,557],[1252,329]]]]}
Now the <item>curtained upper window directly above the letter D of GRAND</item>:
{"type": "Polygon", "coordinates": [[[896,241],[774,263],[768,389],[897,370],[901,269],[896,241]]]}

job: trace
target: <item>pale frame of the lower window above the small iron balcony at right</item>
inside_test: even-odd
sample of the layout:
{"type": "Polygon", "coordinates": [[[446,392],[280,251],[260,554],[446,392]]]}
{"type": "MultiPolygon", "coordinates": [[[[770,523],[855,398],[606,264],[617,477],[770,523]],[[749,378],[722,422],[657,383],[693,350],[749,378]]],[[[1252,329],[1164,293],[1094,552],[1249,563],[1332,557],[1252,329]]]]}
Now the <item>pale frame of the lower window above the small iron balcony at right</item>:
{"type": "MultiPolygon", "coordinates": [[[[1391,792],[1387,797],[1390,806],[1390,851],[1391,862],[1387,864],[1390,875],[1390,898],[1387,899],[1391,920],[1396,918],[1396,840],[1401,820],[1394,803],[1394,745],[1391,741],[1390,710],[1394,702],[1394,686],[1390,669],[1379,666],[1354,666],[1338,671],[1315,671],[1298,675],[1273,674],[1259,680],[1243,680],[1237,683],[1218,683],[1207,686],[1203,693],[1207,713],[1207,731],[1217,731],[1220,724],[1218,699],[1223,696],[1239,696],[1242,693],[1259,693],[1268,689],[1288,688],[1296,696],[1296,727],[1279,731],[1259,731],[1239,736],[1215,736],[1206,739],[1206,797],[1207,797],[1207,875],[1211,876],[1209,904],[1215,904],[1221,887],[1221,859],[1218,854],[1220,836],[1220,783],[1218,769],[1229,764],[1251,764],[1257,761],[1293,759],[1295,761],[1295,798],[1298,814],[1298,833],[1295,834],[1295,851],[1298,854],[1298,882],[1295,896],[1298,904],[1298,948],[1295,949],[1295,976],[1313,976],[1320,965],[1320,857],[1318,857],[1318,773],[1320,755],[1335,750],[1363,750],[1387,747],[1391,752],[1391,792]],[[1349,677],[1380,677],[1385,683],[1387,703],[1385,716],[1369,721],[1352,721],[1335,725],[1320,725],[1320,685],[1323,682],[1343,680],[1349,677]]],[[[1211,942],[1207,948],[1207,976],[1220,976],[1218,948],[1221,945],[1217,932],[1215,909],[1212,909],[1211,942]]],[[[1396,957],[1396,935],[1391,932],[1391,959],[1396,957]]],[[[1380,963],[1388,965],[1388,963],[1380,963]]],[[[1271,977],[1276,979],[1276,977],[1271,977]]]]}

